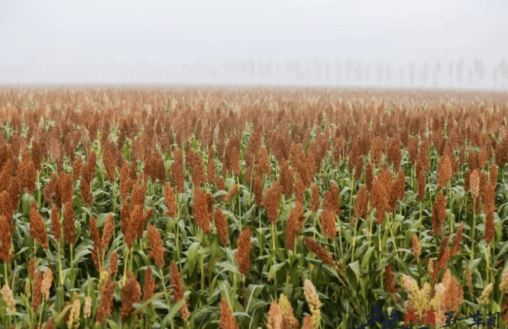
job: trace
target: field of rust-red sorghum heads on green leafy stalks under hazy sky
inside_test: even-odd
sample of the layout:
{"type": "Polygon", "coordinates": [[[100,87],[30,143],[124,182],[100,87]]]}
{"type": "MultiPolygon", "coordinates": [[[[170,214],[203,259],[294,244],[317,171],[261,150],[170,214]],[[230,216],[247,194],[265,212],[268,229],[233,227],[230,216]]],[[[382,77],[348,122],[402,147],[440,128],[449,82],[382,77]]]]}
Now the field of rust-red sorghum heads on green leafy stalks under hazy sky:
{"type": "Polygon", "coordinates": [[[5,328],[508,321],[506,94],[4,86],[0,118],[5,328]]]}

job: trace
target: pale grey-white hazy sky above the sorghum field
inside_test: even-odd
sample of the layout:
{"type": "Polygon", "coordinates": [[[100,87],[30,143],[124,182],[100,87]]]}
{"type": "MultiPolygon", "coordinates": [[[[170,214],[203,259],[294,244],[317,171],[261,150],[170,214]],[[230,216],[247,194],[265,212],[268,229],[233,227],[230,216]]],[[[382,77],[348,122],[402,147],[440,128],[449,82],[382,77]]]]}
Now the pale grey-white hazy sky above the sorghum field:
{"type": "Polygon", "coordinates": [[[0,0],[0,83],[501,88],[506,14],[488,0],[0,0]]]}

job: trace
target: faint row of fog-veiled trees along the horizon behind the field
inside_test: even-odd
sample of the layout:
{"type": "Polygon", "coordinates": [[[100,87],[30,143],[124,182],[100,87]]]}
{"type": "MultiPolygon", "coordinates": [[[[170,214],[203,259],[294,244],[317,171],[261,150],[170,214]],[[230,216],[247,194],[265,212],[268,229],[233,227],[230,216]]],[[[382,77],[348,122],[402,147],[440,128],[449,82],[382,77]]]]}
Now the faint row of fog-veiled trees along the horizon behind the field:
{"type": "Polygon", "coordinates": [[[73,64],[61,67],[0,66],[0,83],[142,82],[189,84],[293,84],[332,86],[424,86],[507,88],[508,61],[487,67],[480,58],[466,62],[439,59],[406,64],[365,58],[277,58],[222,63],[170,64],[144,60],[119,64],[73,64]]]}

